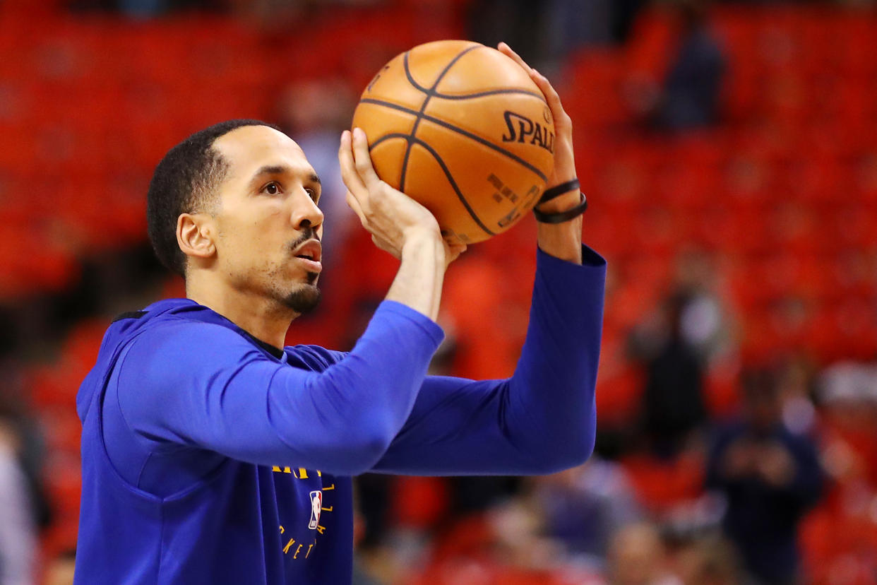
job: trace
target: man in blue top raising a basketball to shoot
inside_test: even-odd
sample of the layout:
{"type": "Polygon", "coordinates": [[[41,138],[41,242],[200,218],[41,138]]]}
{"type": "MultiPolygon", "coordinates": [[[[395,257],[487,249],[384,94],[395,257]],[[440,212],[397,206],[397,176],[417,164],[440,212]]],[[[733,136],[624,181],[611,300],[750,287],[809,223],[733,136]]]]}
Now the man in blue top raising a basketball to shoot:
{"type": "MultiPolygon", "coordinates": [[[[545,93],[558,129],[549,184],[567,182],[560,99],[501,48],[545,93]]],[[[540,207],[560,223],[539,227],[515,375],[427,377],[442,280],[462,246],[378,179],[361,131],[342,135],[339,161],[347,202],[401,260],[346,354],[282,348],[317,302],[321,269],[319,181],[295,142],[237,120],[156,168],[150,239],[188,298],[120,317],[82,382],[78,583],[349,583],[351,476],[539,474],[591,453],[605,263],[581,246],[579,193],[540,207]]]]}

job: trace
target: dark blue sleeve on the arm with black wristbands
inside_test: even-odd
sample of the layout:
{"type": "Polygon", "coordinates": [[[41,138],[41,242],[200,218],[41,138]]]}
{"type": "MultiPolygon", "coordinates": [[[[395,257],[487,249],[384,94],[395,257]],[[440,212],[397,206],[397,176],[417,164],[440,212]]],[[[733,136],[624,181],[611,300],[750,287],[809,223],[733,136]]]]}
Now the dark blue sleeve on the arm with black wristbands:
{"type": "Polygon", "coordinates": [[[606,263],[538,252],[530,325],[514,375],[474,382],[427,377],[408,421],[374,471],[545,474],[594,447],[606,263]]]}

